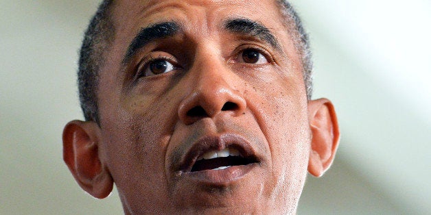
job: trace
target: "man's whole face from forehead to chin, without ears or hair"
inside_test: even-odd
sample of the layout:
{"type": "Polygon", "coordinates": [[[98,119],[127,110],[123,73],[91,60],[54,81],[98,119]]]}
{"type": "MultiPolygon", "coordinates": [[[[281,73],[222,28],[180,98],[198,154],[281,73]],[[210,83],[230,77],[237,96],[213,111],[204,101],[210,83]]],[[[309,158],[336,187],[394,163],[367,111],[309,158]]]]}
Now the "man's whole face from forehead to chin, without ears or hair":
{"type": "Polygon", "coordinates": [[[113,6],[99,153],[125,212],[295,210],[310,127],[275,1],[113,6]]]}

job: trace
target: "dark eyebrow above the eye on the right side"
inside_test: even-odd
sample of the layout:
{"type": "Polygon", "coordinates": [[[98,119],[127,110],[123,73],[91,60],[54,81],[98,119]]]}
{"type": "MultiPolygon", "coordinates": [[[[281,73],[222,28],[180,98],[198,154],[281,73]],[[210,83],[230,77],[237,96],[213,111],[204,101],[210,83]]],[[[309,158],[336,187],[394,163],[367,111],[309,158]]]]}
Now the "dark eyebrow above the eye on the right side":
{"type": "Polygon", "coordinates": [[[224,23],[224,28],[233,33],[257,37],[275,49],[281,49],[279,42],[267,27],[248,18],[231,18],[224,23]]]}

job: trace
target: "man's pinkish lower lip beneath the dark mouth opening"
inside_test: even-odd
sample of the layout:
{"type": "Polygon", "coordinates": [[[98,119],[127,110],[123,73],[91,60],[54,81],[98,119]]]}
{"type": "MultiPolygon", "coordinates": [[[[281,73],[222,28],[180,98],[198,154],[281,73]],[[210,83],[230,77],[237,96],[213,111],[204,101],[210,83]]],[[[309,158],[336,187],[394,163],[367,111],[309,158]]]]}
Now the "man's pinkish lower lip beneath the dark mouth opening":
{"type": "Polygon", "coordinates": [[[202,184],[211,186],[226,186],[238,181],[256,166],[257,164],[253,163],[241,166],[231,166],[223,170],[202,170],[183,173],[182,176],[189,177],[189,179],[202,184]]]}

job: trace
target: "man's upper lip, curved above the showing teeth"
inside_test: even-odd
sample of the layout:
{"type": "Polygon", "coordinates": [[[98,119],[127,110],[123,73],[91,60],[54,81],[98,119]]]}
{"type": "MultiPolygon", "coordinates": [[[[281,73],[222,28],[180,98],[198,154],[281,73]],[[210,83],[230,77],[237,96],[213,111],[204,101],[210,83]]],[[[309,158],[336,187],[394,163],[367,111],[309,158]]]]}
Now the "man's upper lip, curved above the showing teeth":
{"type": "Polygon", "coordinates": [[[189,151],[187,151],[183,162],[181,162],[180,169],[183,173],[188,173],[191,171],[191,168],[194,166],[200,155],[211,150],[219,151],[227,147],[237,149],[240,151],[240,155],[246,159],[259,162],[258,157],[248,140],[237,134],[222,134],[220,136],[205,136],[194,142],[189,151]]]}

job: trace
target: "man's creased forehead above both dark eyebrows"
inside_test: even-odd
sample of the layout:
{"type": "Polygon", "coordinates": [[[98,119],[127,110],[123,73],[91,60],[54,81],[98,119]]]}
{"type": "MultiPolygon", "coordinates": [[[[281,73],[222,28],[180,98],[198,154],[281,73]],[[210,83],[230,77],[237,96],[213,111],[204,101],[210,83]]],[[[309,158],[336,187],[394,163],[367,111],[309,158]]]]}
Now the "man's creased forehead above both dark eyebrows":
{"type": "Polygon", "coordinates": [[[273,30],[286,31],[274,0],[120,0],[115,1],[112,16],[115,28],[127,34],[161,21],[179,21],[185,27],[205,32],[220,27],[230,17],[250,18],[273,30]]]}

